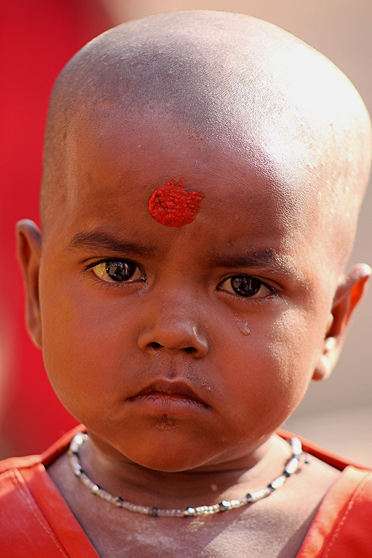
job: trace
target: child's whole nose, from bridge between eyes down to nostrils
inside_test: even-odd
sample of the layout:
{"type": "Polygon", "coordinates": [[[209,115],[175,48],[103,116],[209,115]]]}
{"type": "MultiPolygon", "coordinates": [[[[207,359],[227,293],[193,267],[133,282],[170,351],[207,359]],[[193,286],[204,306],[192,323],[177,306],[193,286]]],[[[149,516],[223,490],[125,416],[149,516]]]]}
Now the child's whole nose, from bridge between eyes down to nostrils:
{"type": "Polygon", "coordinates": [[[209,350],[207,335],[200,323],[200,305],[190,289],[165,290],[155,296],[147,324],[138,336],[142,350],[163,349],[204,357],[209,350]]]}

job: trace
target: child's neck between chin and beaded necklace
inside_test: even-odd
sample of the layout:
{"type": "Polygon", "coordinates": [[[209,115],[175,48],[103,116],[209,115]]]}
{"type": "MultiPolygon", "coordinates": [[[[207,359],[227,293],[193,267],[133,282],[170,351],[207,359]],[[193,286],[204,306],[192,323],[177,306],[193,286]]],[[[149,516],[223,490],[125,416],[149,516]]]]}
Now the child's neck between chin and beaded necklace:
{"type": "Polygon", "coordinates": [[[263,488],[281,474],[291,447],[272,435],[258,449],[239,459],[176,473],[114,459],[94,437],[81,446],[79,455],[88,477],[113,496],[144,506],[185,508],[241,498],[251,490],[263,488]]]}

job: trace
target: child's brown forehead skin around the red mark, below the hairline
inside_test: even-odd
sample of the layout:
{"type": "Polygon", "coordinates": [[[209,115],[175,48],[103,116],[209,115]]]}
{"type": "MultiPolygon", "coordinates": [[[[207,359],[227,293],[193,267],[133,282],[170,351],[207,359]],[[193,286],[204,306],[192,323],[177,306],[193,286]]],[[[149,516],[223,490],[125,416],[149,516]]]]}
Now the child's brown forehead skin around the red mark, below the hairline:
{"type": "Polygon", "coordinates": [[[234,149],[184,118],[161,110],[125,118],[109,105],[100,105],[93,118],[81,114],[70,129],[70,222],[109,217],[134,223],[134,215],[141,215],[143,226],[153,224],[148,213],[152,192],[183,177],[186,190],[205,193],[197,222],[215,231],[260,235],[265,224],[265,235],[285,236],[316,224],[317,196],[306,186],[306,165],[302,169],[293,161],[293,176],[301,175],[294,180],[259,143],[247,148],[236,142],[234,149]]]}

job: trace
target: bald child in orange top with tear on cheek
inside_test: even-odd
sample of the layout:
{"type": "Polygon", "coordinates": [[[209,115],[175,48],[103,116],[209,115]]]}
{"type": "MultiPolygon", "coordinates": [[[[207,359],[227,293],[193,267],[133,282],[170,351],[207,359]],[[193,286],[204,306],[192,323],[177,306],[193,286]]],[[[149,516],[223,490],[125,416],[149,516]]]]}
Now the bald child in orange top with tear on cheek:
{"type": "Polygon", "coordinates": [[[345,76],[255,18],[151,16],[67,64],[18,238],[85,426],[1,464],[2,556],[371,555],[372,473],[275,433],[371,273],[344,273],[370,151],[345,76]]]}

